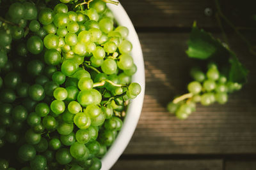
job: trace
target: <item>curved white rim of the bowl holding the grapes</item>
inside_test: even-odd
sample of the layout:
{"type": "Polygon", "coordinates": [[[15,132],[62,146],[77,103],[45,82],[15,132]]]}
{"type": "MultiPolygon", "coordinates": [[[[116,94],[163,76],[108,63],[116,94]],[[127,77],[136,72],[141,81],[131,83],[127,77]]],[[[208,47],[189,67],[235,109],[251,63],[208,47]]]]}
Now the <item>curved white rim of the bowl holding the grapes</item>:
{"type": "Polygon", "coordinates": [[[145,69],[138,35],[130,18],[120,3],[117,6],[115,4],[108,4],[108,8],[113,11],[118,25],[123,25],[129,29],[129,36],[127,39],[132,43],[131,55],[134,64],[136,64],[138,68],[137,72],[132,77],[132,81],[141,85],[141,93],[129,104],[123,127],[118,133],[113,145],[111,145],[106,155],[102,158],[102,170],[110,169],[128,145],[136,125],[138,124],[145,94],[145,69]]]}

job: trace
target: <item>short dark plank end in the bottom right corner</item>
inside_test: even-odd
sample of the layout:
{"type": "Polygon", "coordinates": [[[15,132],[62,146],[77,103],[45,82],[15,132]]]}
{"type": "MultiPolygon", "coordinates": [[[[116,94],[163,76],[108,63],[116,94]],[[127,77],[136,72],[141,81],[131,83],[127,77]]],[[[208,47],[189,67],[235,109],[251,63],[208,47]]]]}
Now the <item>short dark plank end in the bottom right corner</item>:
{"type": "Polygon", "coordinates": [[[225,170],[252,170],[256,169],[255,160],[227,160],[225,170]]]}

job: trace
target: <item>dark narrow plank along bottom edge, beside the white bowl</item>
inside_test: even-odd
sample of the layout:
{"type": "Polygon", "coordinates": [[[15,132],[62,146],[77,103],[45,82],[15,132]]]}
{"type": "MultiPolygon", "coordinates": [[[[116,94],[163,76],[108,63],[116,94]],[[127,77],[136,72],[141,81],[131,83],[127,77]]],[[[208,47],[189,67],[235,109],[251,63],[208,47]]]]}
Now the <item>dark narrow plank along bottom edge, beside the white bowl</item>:
{"type": "Polygon", "coordinates": [[[111,169],[222,170],[223,168],[222,160],[120,160],[111,169]]]}

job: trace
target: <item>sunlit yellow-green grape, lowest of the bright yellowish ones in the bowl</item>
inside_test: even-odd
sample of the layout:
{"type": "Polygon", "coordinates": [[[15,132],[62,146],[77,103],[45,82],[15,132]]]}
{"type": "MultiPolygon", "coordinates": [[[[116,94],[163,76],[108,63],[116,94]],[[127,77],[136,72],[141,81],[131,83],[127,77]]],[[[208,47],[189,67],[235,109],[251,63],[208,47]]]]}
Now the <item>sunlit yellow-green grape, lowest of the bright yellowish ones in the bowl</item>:
{"type": "Polygon", "coordinates": [[[91,125],[91,119],[83,112],[79,112],[74,117],[74,123],[79,129],[87,129],[91,125]]]}

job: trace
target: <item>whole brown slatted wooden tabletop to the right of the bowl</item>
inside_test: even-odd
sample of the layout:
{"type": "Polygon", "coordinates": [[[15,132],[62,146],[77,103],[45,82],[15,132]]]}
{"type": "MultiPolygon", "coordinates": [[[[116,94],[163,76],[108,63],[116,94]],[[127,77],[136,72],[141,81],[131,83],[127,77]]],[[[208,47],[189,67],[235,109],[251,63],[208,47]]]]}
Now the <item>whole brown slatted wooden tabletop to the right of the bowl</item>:
{"type": "Polygon", "coordinates": [[[125,152],[114,169],[256,169],[256,56],[228,34],[230,48],[250,70],[248,83],[231,94],[225,105],[196,106],[186,120],[166,111],[166,104],[186,92],[191,59],[188,47],[191,25],[221,37],[210,0],[121,1],[140,38],[146,73],[141,117],[125,152]]]}

